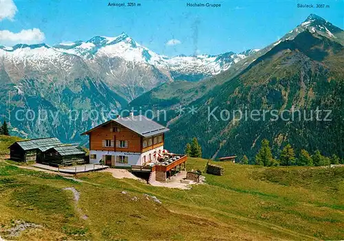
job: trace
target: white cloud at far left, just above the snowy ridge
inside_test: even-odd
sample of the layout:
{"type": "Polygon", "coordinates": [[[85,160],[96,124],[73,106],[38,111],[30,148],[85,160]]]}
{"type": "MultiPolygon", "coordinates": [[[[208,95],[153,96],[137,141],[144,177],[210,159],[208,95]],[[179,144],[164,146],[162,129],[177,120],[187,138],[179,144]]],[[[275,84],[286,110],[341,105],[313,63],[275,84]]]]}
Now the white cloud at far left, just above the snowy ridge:
{"type": "Polygon", "coordinates": [[[44,33],[37,28],[33,28],[32,30],[21,30],[19,33],[10,32],[8,30],[0,31],[0,43],[3,45],[42,43],[44,39],[44,33]]]}

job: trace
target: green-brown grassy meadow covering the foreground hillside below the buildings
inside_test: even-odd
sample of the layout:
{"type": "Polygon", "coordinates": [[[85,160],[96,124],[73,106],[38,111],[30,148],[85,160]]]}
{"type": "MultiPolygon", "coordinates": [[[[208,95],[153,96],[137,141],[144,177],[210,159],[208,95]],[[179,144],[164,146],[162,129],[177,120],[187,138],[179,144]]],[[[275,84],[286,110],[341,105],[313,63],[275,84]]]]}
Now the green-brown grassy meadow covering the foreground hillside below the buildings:
{"type": "MultiPolygon", "coordinates": [[[[204,170],[206,159],[186,168],[204,170]]],[[[0,236],[9,240],[343,240],[344,168],[217,163],[191,190],[104,172],[21,169],[0,157],[0,236]],[[80,182],[82,181],[82,182],[80,182]],[[74,187],[80,199],[74,200],[74,187]],[[125,191],[125,193],[122,193],[125,191]],[[162,204],[149,196],[156,196],[162,204]],[[18,222],[41,225],[8,236],[18,222]]]]}

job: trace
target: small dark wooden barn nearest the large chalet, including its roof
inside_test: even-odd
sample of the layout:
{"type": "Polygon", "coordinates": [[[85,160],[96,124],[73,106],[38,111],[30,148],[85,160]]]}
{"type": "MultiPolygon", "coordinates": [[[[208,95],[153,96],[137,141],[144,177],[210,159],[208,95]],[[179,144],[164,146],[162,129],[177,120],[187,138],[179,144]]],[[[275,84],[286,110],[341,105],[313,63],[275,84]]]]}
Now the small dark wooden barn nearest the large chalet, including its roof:
{"type": "Polygon", "coordinates": [[[81,165],[86,163],[85,155],[85,150],[79,146],[55,146],[44,152],[43,164],[81,165]]]}

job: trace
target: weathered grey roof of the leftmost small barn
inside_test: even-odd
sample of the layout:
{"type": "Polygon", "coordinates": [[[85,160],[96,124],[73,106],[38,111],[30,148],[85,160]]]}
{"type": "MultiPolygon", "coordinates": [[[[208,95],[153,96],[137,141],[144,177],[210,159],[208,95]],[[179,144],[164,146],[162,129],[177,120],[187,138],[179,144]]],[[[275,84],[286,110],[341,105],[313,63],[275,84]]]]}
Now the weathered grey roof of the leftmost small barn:
{"type": "Polygon", "coordinates": [[[28,141],[17,141],[14,144],[18,144],[21,148],[23,148],[23,150],[39,149],[42,152],[45,152],[45,150],[53,148],[54,146],[61,145],[62,143],[56,137],[49,137],[49,138],[41,138],[41,139],[31,139],[28,141]]]}

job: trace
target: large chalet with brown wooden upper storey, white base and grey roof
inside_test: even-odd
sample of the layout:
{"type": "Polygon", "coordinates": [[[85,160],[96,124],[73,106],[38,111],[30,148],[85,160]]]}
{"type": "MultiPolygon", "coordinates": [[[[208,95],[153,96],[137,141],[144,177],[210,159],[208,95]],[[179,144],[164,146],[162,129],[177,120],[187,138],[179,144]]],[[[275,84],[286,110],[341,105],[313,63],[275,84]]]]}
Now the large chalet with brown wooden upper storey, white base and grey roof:
{"type": "Polygon", "coordinates": [[[142,115],[118,117],[87,130],[89,162],[128,167],[158,159],[169,129],[142,115]]]}

